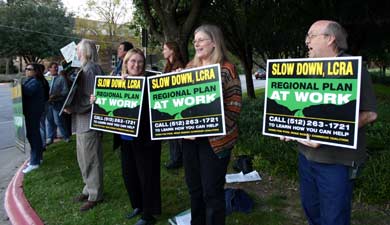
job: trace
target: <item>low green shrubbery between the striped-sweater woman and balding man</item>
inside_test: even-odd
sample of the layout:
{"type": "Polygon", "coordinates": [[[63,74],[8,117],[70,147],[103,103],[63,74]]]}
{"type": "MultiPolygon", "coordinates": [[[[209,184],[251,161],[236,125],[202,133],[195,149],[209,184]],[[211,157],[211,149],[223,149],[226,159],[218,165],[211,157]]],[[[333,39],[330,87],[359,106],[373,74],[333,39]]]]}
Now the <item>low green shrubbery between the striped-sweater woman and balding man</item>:
{"type": "Polygon", "coordinates": [[[244,99],[235,155],[253,157],[253,167],[269,175],[297,178],[297,151],[293,143],[262,135],[264,99],[244,99]]]}

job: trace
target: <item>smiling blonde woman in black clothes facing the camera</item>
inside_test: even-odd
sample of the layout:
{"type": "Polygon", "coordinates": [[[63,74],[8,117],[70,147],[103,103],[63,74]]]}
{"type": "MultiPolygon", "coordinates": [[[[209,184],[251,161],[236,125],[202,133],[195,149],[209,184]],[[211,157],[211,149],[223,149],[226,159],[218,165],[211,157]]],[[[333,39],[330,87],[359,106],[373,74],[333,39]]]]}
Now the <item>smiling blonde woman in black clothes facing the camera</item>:
{"type": "MultiPolygon", "coordinates": [[[[123,60],[122,77],[144,74],[145,56],[142,50],[135,48],[128,51],[123,60]]],[[[142,214],[136,225],[154,224],[153,215],[161,214],[161,142],[150,139],[147,90],[145,86],[138,137],[121,137],[122,175],[133,208],[127,218],[142,214]]]]}

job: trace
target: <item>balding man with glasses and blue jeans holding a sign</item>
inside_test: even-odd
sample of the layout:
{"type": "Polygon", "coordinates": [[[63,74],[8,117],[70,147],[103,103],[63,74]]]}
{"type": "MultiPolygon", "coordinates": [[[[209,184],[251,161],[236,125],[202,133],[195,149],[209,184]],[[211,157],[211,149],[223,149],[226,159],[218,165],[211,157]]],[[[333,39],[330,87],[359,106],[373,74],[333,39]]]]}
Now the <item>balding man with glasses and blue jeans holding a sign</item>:
{"type": "MultiPolygon", "coordinates": [[[[347,34],[337,22],[315,22],[305,42],[310,58],[346,56],[347,34]]],[[[377,117],[368,71],[362,68],[361,75],[357,149],[298,141],[301,201],[311,225],[350,224],[353,179],[366,159],[364,126],[377,117]]]]}

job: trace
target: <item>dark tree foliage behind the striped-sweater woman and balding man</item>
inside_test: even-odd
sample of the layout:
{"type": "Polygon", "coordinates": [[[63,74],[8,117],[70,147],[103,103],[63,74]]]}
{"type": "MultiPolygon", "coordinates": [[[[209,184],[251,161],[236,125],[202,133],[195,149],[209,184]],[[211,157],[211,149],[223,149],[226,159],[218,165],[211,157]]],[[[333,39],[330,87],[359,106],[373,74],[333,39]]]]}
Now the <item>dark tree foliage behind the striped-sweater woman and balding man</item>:
{"type": "MultiPolygon", "coordinates": [[[[195,26],[222,28],[228,49],[239,58],[247,78],[248,96],[253,65],[267,59],[306,57],[305,35],[320,19],[335,20],[349,34],[348,53],[362,55],[385,68],[390,64],[390,1],[387,0],[137,0],[136,8],[151,35],[160,43],[174,40],[187,53],[195,26]]],[[[384,72],[383,72],[384,73],[384,72]]]]}

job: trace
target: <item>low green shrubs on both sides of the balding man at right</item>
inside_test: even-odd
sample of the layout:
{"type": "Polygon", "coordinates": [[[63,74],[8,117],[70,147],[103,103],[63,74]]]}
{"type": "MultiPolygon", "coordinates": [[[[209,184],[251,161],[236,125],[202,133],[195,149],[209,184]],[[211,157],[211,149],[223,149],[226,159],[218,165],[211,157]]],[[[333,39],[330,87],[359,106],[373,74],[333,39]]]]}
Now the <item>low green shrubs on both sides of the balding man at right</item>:
{"type": "MultiPolygon", "coordinates": [[[[390,88],[375,85],[378,120],[367,129],[368,160],[356,180],[355,198],[367,203],[390,201],[390,88]]],[[[260,94],[263,95],[263,94],[260,94]]],[[[245,98],[239,120],[240,137],[234,155],[250,155],[260,173],[296,180],[297,147],[262,135],[264,98],[245,98]]]]}

